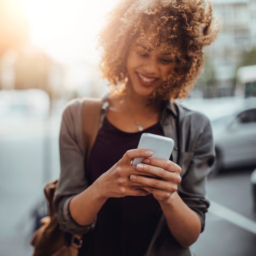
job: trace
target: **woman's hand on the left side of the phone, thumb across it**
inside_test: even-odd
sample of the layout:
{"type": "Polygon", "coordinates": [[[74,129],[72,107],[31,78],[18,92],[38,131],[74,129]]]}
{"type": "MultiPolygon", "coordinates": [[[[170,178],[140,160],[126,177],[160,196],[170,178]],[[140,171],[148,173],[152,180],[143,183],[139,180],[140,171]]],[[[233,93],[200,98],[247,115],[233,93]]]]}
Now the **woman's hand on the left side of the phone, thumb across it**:
{"type": "MultiPolygon", "coordinates": [[[[107,172],[103,173],[92,186],[101,198],[124,197],[124,196],[146,196],[150,194],[144,189],[135,186],[140,184],[130,180],[131,174],[141,175],[136,166],[131,165],[135,157],[150,157],[152,151],[146,149],[131,149],[107,172]]],[[[146,174],[146,173],[144,173],[146,174]]]]}

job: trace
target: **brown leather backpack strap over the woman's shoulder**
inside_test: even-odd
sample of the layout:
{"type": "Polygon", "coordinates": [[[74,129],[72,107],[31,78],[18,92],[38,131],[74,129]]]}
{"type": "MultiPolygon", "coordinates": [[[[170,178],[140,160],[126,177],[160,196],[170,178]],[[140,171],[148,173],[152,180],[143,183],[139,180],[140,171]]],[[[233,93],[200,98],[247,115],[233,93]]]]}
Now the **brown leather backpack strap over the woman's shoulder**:
{"type": "Polygon", "coordinates": [[[82,131],[86,152],[86,165],[89,162],[91,148],[98,134],[101,107],[102,99],[85,98],[83,100],[82,131]]]}

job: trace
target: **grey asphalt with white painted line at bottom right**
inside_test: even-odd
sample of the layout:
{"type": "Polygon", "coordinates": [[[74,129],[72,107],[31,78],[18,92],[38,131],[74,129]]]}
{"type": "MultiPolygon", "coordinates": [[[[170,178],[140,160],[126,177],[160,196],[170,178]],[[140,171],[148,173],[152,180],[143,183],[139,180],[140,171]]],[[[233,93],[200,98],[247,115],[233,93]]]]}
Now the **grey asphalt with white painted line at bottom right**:
{"type": "Polygon", "coordinates": [[[205,230],[191,246],[196,256],[255,256],[252,171],[228,170],[209,179],[207,195],[211,206],[206,214],[205,230]]]}

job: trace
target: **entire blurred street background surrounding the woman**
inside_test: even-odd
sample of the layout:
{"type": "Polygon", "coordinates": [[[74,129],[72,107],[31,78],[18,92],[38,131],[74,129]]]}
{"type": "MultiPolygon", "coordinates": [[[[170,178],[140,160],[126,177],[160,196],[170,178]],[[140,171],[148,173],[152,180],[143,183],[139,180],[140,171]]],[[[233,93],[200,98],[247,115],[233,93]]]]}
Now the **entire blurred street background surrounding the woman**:
{"type": "MultiPolygon", "coordinates": [[[[43,185],[59,175],[58,133],[66,103],[75,97],[100,97],[107,92],[95,46],[105,15],[116,2],[0,0],[0,256],[31,255],[29,238],[38,218],[45,214],[43,185]]],[[[225,126],[223,120],[230,119],[227,127],[231,132],[225,128],[226,134],[231,134],[233,141],[238,136],[241,140],[237,140],[238,146],[225,142],[227,150],[239,148],[244,142],[243,149],[232,153],[233,158],[237,160],[242,151],[252,156],[250,161],[233,159],[233,165],[227,164],[227,168],[222,161],[218,175],[216,172],[209,179],[209,195],[217,210],[212,207],[209,228],[193,250],[196,255],[211,255],[205,251],[217,250],[213,241],[223,232],[222,221],[228,221],[225,223],[231,226],[225,226],[225,232],[232,231],[233,239],[243,236],[242,242],[239,239],[239,247],[247,248],[243,255],[253,255],[256,0],[212,2],[222,20],[222,30],[217,41],[204,50],[205,69],[183,103],[203,111],[213,126],[217,123],[216,130],[219,123],[225,126]],[[254,110],[247,125],[248,121],[237,113],[249,108],[254,110]],[[241,123],[247,125],[245,132],[241,123]],[[243,191],[243,198],[237,196],[237,190],[243,191]],[[230,221],[234,213],[239,218],[230,221]],[[219,229],[214,229],[216,223],[219,229]]],[[[219,137],[214,138],[218,142],[219,137]]],[[[219,161],[223,158],[222,153],[219,161]]],[[[239,249],[230,249],[231,241],[226,244],[227,248],[212,255],[242,255],[239,249]]]]}

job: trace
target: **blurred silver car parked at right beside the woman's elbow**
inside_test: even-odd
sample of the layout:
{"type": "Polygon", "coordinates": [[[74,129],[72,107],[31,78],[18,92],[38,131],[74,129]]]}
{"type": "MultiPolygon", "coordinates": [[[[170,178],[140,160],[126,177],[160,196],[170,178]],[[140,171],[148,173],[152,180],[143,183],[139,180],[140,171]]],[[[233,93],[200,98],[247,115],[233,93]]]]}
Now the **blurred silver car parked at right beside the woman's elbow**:
{"type": "Polygon", "coordinates": [[[256,98],[245,99],[239,109],[234,106],[231,114],[219,113],[211,123],[217,157],[211,175],[221,169],[256,166],[256,98]]]}

